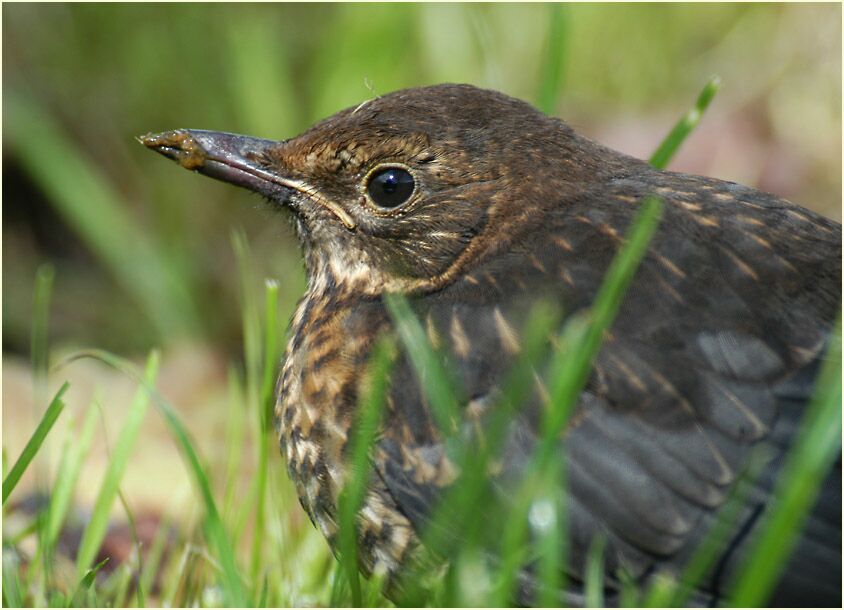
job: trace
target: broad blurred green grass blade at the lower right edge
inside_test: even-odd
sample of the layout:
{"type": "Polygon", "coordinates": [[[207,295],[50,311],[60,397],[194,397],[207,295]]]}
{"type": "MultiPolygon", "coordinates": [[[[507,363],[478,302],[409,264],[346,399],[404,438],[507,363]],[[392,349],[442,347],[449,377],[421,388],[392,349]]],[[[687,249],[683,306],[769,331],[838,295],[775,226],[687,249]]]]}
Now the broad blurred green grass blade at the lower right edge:
{"type": "Polygon", "coordinates": [[[826,473],[841,451],[841,319],[782,474],[761,534],[733,583],[731,603],[756,607],[767,601],[785,568],[800,528],[826,473]]]}

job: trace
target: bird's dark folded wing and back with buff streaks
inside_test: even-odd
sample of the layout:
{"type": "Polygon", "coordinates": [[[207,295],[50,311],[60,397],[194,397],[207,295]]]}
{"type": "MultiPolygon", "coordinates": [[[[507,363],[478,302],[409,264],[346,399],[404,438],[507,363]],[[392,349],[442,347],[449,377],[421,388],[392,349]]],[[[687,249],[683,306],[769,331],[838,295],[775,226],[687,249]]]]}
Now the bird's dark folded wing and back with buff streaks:
{"type": "MultiPolygon", "coordinates": [[[[468,412],[482,411],[518,351],[530,303],[552,298],[567,314],[589,306],[649,194],[666,203],[662,224],[560,441],[569,569],[582,575],[599,532],[609,574],[623,566],[645,578],[682,566],[750,449],[769,439],[775,459],[704,585],[717,595],[767,502],[840,307],[840,225],[732,183],[672,173],[617,180],[561,204],[500,255],[427,297],[418,313],[450,352],[468,412]]],[[[422,530],[454,470],[412,370],[399,368],[404,383],[393,384],[390,408],[400,416],[389,420],[376,463],[422,530]]],[[[537,441],[541,394],[511,423],[495,479],[502,502],[537,441]]],[[[840,480],[825,493],[827,512],[813,516],[796,553],[811,558],[811,568],[791,574],[783,596],[840,597],[840,480]]]]}

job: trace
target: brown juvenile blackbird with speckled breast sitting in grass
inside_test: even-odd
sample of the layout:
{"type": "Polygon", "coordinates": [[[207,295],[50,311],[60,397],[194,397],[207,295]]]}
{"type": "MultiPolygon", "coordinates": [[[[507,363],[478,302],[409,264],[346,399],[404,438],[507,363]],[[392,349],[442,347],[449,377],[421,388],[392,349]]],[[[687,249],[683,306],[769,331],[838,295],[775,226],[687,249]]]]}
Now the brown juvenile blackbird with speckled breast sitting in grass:
{"type": "MultiPolygon", "coordinates": [[[[695,603],[721,597],[770,498],[840,309],[841,226],[739,184],[658,171],[559,119],[467,85],[398,91],[284,141],[178,130],[142,142],[183,167],[293,213],[307,293],[291,322],[276,407],[302,506],[332,546],[363,371],[407,295],[450,358],[466,421],[483,419],[519,353],[537,299],[565,316],[593,302],[649,195],[664,215],[602,345],[565,454],[569,588],[606,536],[607,603],[623,568],[645,582],[677,570],[766,442],[773,458],[745,496],[695,603]],[[480,419],[479,419],[480,418],[480,419]]],[[[538,439],[547,379],[515,405],[488,475],[506,505],[538,439]]],[[[367,572],[395,579],[460,475],[406,355],[359,514],[367,572]]],[[[775,592],[778,605],[841,603],[840,458],[775,592]]],[[[486,512],[479,507],[478,519],[486,512]]],[[[448,528],[448,525],[439,524],[448,528]]],[[[498,537],[497,526],[489,536],[498,537]]],[[[447,535],[459,541],[461,532],[447,535]]],[[[516,601],[530,603],[531,568],[516,601]]]]}

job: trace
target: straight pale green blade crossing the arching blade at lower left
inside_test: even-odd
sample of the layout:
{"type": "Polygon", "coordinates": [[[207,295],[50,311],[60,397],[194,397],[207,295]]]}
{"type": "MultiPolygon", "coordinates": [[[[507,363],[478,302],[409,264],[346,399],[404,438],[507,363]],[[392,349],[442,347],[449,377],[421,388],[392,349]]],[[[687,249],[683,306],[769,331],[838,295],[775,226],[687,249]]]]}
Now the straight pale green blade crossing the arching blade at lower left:
{"type": "MultiPolygon", "coordinates": [[[[159,357],[157,352],[152,352],[147,359],[145,379],[149,385],[155,383],[158,374],[159,357]]],[[[79,553],[76,559],[76,574],[82,578],[94,561],[108,529],[108,516],[114,500],[117,498],[120,480],[129,463],[129,456],[135,447],[141,424],[149,407],[149,392],[145,385],[138,387],[132,404],[129,406],[129,413],[126,422],[120,430],[120,435],[114,446],[114,451],[108,462],[97,500],[94,502],[94,509],[91,513],[91,520],[85,527],[82,540],[79,543],[79,553]]]]}

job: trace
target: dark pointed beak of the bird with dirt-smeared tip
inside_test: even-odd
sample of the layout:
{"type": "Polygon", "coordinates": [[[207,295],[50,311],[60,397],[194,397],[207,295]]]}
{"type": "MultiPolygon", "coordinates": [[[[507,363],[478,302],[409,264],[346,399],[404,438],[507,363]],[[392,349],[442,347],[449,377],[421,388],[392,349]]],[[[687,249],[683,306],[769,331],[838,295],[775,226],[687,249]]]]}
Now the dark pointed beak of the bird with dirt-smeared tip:
{"type": "Polygon", "coordinates": [[[267,197],[278,198],[289,192],[284,180],[260,162],[267,150],[279,145],[273,140],[199,129],[151,133],[138,140],[185,169],[211,178],[246,187],[267,197]]]}

